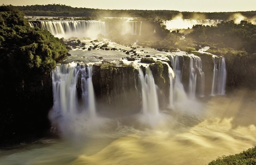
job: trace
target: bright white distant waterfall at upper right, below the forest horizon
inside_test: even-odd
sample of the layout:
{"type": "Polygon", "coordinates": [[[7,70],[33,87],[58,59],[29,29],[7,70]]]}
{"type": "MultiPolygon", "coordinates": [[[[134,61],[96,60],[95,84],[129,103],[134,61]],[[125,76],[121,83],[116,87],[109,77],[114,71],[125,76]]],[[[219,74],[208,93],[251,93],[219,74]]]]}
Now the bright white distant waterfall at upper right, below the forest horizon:
{"type": "Polygon", "coordinates": [[[215,25],[220,23],[222,20],[218,19],[205,19],[205,20],[189,20],[189,19],[173,19],[163,21],[163,25],[166,26],[168,30],[176,30],[176,29],[188,29],[192,28],[193,25],[215,25]]]}

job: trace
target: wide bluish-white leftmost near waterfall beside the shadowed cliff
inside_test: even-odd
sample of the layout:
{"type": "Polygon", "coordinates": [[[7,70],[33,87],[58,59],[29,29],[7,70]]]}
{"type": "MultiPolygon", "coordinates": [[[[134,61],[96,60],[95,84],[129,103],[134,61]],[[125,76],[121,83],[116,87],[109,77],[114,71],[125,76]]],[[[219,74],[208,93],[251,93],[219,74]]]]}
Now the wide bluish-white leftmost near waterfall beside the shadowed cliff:
{"type": "Polygon", "coordinates": [[[64,116],[68,112],[86,111],[91,117],[96,116],[92,64],[58,64],[52,71],[52,89],[53,110],[57,114],[64,116]]]}

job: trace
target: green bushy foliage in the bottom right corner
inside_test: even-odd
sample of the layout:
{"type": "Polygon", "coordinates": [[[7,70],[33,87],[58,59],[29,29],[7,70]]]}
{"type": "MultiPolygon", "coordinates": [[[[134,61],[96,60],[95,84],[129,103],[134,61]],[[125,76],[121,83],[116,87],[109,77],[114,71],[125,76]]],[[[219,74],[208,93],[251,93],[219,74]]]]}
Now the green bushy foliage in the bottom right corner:
{"type": "Polygon", "coordinates": [[[243,151],[239,154],[222,156],[215,161],[211,161],[208,165],[247,165],[247,164],[256,164],[256,146],[250,148],[246,151],[243,151]]]}

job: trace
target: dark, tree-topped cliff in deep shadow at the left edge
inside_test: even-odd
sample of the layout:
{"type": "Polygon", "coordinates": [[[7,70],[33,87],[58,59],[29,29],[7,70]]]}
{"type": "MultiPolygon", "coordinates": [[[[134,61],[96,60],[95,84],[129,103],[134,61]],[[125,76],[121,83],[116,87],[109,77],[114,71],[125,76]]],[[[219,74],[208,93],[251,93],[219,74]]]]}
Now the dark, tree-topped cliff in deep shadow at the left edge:
{"type": "Polygon", "coordinates": [[[58,38],[30,27],[16,8],[0,6],[0,139],[49,126],[50,72],[67,53],[58,38]]]}

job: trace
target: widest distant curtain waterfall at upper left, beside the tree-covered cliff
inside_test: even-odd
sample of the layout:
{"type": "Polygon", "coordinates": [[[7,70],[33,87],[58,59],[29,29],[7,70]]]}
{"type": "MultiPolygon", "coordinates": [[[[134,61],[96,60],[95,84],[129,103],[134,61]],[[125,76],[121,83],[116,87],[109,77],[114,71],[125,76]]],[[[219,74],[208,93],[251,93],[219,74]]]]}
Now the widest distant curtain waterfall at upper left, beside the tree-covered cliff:
{"type": "Polygon", "coordinates": [[[108,26],[102,21],[40,21],[30,23],[30,26],[39,27],[51,32],[55,37],[68,39],[70,37],[97,37],[98,34],[107,35],[108,26]]]}

